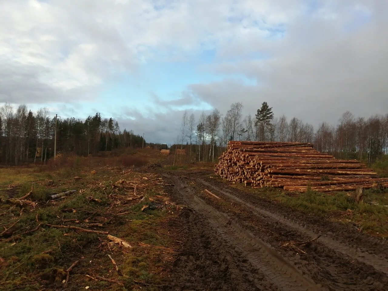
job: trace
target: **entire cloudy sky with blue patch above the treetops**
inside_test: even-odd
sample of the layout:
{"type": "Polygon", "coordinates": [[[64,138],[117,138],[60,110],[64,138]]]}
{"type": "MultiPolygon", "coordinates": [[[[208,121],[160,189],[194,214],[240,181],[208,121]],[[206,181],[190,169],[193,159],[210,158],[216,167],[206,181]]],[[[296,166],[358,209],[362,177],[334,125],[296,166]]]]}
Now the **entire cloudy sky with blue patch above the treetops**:
{"type": "Polygon", "coordinates": [[[0,104],[148,142],[242,102],[315,127],[388,113],[385,0],[0,0],[0,104]]]}

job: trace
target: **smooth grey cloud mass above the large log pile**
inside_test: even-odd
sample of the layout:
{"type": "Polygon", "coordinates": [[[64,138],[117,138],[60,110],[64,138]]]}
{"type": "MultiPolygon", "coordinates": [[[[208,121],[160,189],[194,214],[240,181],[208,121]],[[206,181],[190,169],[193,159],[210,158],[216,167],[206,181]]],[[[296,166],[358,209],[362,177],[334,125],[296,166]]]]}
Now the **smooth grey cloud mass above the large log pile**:
{"type": "Polygon", "coordinates": [[[221,112],[242,101],[245,113],[254,114],[267,101],[277,115],[296,116],[315,126],[322,121],[335,125],[346,110],[365,117],[386,114],[388,31],[382,28],[388,24],[388,9],[373,7],[353,9],[372,17],[352,31],[348,30],[352,17],[342,17],[345,8],[349,12],[352,7],[332,13],[322,7],[289,24],[287,36],[271,44],[271,57],[223,61],[209,68],[253,78],[255,86],[224,80],[190,88],[221,112]]]}

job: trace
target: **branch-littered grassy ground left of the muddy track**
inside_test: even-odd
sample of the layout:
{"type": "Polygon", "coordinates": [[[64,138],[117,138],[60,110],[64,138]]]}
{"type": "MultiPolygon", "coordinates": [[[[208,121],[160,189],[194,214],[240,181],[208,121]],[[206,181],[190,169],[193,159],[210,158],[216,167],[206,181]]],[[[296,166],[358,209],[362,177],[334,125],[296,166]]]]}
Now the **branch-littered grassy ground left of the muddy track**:
{"type": "Polygon", "coordinates": [[[170,208],[175,209],[176,205],[161,202],[154,210],[142,211],[142,207],[151,200],[157,201],[155,195],[158,192],[165,192],[163,185],[158,184],[158,177],[138,173],[132,167],[95,168],[96,173],[92,174],[90,169],[79,166],[77,174],[82,178],[74,180],[68,173],[61,175],[62,170],[57,169],[53,181],[45,181],[45,175],[29,169],[26,169],[29,177],[24,175],[24,169],[19,173],[9,172],[10,183],[17,184],[18,181],[19,184],[16,189],[0,190],[3,202],[0,204],[0,232],[19,221],[0,238],[0,289],[35,291],[90,286],[91,289],[126,290],[141,287],[143,290],[157,290],[157,285],[163,284],[161,274],[168,268],[169,262],[172,263],[173,257],[168,248],[176,244],[170,236],[160,234],[168,232],[166,222],[176,216],[170,208]],[[142,177],[148,177],[148,180],[142,177]],[[33,194],[28,200],[37,204],[12,204],[10,198],[28,193],[32,184],[28,181],[36,178],[41,181],[33,183],[33,194]],[[124,204],[125,197],[133,196],[133,189],[122,187],[120,180],[128,181],[129,184],[125,185],[138,184],[137,194],[144,195],[144,200],[124,204]],[[151,181],[152,187],[144,186],[151,181]],[[55,202],[47,199],[52,193],[72,189],[77,192],[68,197],[55,202]],[[41,223],[40,229],[24,234],[41,223]],[[128,241],[133,248],[124,249],[112,244],[105,235],[58,229],[44,223],[108,231],[128,241]],[[89,223],[102,225],[88,227],[89,223]],[[116,274],[107,254],[116,260],[123,276],[116,274]],[[62,283],[66,278],[65,271],[76,260],[80,260],[80,263],[74,267],[71,281],[66,286],[62,283]],[[88,282],[85,274],[92,273],[117,279],[124,286],[104,281],[88,282]]]}

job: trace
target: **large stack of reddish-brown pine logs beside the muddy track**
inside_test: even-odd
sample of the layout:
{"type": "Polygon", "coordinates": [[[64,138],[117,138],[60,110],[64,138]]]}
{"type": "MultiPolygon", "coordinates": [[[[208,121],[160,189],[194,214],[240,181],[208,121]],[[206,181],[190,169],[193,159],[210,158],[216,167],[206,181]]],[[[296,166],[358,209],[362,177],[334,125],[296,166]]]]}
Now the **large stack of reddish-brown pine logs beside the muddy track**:
{"type": "Polygon", "coordinates": [[[252,187],[294,192],[388,187],[388,178],[380,178],[360,161],[336,159],[309,143],[230,141],[218,159],[218,175],[252,187]]]}

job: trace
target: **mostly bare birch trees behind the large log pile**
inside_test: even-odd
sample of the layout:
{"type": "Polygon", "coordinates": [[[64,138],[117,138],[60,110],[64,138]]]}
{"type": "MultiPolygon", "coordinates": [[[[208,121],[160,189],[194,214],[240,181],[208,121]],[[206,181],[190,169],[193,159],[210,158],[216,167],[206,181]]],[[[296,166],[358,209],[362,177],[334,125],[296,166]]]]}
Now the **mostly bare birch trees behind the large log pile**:
{"type": "Polygon", "coordinates": [[[182,117],[181,147],[190,145],[198,161],[214,161],[229,140],[310,142],[321,152],[343,159],[360,159],[372,163],[388,154],[388,114],[356,118],[346,111],[337,125],[322,122],[314,126],[285,115],[275,117],[267,102],[256,114],[243,116],[242,103],[236,102],[221,115],[218,109],[202,114],[195,122],[187,112],[182,117]],[[195,146],[192,146],[195,145],[195,146]]]}

